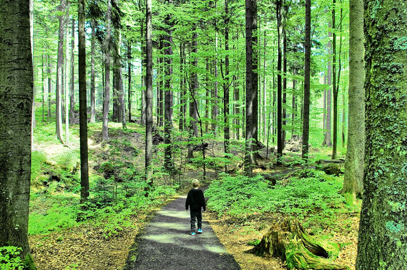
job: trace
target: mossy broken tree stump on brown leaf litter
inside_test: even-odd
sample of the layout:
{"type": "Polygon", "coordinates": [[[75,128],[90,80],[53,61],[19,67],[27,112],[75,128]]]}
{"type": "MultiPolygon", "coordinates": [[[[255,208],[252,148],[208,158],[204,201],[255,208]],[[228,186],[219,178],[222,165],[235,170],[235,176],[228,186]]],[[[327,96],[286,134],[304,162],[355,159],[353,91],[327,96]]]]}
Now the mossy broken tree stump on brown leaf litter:
{"type": "Polygon", "coordinates": [[[253,248],[256,255],[270,255],[286,260],[289,269],[347,269],[334,263],[343,244],[310,236],[296,219],[274,224],[253,248]]]}

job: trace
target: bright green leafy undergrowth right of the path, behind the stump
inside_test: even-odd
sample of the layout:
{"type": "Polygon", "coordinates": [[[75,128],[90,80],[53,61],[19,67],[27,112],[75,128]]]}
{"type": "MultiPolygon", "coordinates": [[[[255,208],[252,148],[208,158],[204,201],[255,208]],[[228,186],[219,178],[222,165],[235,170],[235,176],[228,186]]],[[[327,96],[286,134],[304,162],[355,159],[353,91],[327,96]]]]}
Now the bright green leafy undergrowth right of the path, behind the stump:
{"type": "Polygon", "coordinates": [[[342,177],[303,169],[277,178],[276,185],[263,176],[223,174],[211,183],[205,196],[208,208],[219,216],[244,221],[249,215],[280,213],[298,218],[304,227],[333,227],[338,214],[351,211],[352,205],[338,192],[342,177]]]}

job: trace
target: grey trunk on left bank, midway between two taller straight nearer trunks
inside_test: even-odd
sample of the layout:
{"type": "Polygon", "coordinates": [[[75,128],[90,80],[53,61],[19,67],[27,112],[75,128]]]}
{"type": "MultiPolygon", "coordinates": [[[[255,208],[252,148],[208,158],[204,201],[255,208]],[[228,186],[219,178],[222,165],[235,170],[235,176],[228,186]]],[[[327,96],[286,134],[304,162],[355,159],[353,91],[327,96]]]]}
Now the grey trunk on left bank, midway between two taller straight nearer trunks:
{"type": "Polygon", "coordinates": [[[104,41],[105,46],[105,100],[103,103],[103,140],[109,140],[107,121],[109,116],[109,96],[110,96],[110,42],[111,42],[111,0],[107,0],[107,12],[106,12],[106,38],[104,41]]]}

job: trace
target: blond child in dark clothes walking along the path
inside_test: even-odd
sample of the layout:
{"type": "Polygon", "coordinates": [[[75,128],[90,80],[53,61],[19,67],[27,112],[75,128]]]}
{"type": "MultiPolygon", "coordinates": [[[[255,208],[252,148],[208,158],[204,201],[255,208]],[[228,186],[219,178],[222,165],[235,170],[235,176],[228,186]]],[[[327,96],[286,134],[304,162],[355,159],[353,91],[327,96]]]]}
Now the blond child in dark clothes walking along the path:
{"type": "Polygon", "coordinates": [[[189,206],[191,209],[191,235],[195,235],[195,219],[198,222],[197,233],[202,233],[202,213],[200,210],[203,207],[203,211],[205,211],[206,204],[203,192],[199,189],[199,181],[197,179],[192,180],[192,187],[193,189],[188,192],[187,200],[185,201],[185,211],[188,211],[189,206]]]}

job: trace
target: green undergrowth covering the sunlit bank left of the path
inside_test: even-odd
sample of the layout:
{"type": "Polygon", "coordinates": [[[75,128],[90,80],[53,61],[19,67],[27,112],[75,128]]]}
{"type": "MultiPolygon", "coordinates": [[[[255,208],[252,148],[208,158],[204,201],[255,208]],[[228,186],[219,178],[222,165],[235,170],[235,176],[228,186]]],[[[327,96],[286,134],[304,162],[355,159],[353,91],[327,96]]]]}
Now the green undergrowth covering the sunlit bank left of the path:
{"type": "MultiPolygon", "coordinates": [[[[121,123],[112,123],[109,143],[97,152],[89,152],[93,164],[89,174],[90,197],[80,204],[78,125],[70,126],[72,144],[64,147],[55,139],[55,123],[42,123],[38,117],[37,121],[34,138],[39,149],[32,153],[30,235],[90,223],[110,237],[133,226],[135,215],[150,211],[176,194],[175,185],[156,185],[150,188],[148,197],[144,196],[144,170],[133,164],[140,150],[129,141],[142,128],[129,124],[123,130],[119,128],[121,123]]],[[[89,134],[100,131],[101,123],[89,124],[89,134]]]]}

